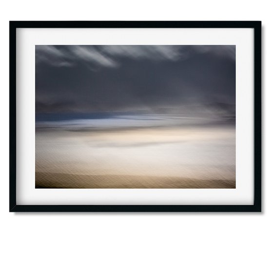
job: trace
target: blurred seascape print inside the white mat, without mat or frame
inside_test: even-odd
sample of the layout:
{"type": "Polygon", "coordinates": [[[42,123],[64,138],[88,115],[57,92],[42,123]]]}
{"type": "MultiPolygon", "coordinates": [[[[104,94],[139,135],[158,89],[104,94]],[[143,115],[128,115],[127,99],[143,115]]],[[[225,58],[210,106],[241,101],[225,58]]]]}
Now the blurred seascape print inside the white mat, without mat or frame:
{"type": "Polygon", "coordinates": [[[235,45],[36,45],[35,187],[235,188],[235,45]]]}

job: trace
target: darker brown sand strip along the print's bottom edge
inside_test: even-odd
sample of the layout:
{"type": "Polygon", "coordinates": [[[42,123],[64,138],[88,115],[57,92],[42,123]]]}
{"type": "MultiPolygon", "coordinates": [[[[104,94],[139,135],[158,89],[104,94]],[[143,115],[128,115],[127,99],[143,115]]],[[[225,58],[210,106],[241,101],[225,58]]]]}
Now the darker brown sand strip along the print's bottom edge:
{"type": "Polygon", "coordinates": [[[62,189],[234,189],[235,180],[202,180],[171,176],[89,176],[37,172],[35,173],[35,187],[62,189]]]}

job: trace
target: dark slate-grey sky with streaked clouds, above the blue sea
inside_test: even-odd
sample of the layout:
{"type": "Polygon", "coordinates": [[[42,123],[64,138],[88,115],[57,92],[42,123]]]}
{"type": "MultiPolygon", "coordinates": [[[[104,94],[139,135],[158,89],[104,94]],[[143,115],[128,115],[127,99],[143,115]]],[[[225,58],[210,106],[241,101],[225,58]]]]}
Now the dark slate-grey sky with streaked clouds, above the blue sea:
{"type": "Polygon", "coordinates": [[[234,109],[233,45],[36,46],[36,113],[226,104],[234,109]]]}

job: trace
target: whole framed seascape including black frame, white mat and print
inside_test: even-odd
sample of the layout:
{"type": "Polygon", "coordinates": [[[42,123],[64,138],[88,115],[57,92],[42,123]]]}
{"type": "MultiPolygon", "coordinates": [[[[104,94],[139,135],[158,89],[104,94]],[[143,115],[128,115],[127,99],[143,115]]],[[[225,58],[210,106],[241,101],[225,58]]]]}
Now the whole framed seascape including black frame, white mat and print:
{"type": "Polygon", "coordinates": [[[10,212],[260,211],[260,21],[10,21],[10,212]]]}

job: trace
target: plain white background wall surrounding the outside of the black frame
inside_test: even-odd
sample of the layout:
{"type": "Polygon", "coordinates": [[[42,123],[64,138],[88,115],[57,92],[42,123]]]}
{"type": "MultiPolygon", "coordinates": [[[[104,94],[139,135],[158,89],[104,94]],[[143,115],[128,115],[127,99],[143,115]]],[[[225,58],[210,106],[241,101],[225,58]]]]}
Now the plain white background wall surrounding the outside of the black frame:
{"type": "Polygon", "coordinates": [[[1,272],[273,272],[270,1],[2,1],[0,27],[1,272]],[[9,20],[262,20],[263,213],[9,213],[9,20]]]}

